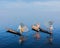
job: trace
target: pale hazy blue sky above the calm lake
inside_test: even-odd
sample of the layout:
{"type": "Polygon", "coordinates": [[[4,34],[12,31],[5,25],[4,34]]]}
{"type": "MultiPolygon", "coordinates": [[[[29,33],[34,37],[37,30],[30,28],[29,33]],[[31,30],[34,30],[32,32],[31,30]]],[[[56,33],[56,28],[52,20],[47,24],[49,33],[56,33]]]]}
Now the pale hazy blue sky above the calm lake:
{"type": "Polygon", "coordinates": [[[59,0],[0,0],[0,14],[60,11],[59,0]]]}

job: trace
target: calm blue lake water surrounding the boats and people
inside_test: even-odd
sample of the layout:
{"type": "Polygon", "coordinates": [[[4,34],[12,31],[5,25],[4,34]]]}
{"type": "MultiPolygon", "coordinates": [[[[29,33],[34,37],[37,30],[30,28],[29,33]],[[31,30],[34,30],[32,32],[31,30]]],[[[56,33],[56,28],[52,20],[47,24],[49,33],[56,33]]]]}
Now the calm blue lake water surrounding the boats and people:
{"type": "Polygon", "coordinates": [[[49,12],[47,14],[41,12],[40,14],[40,16],[33,16],[32,14],[31,16],[14,16],[13,14],[11,16],[0,16],[0,48],[60,48],[60,13],[49,12]],[[52,44],[49,42],[50,36],[48,34],[40,32],[40,39],[36,40],[33,37],[35,32],[31,30],[31,25],[35,23],[40,23],[41,27],[46,29],[45,23],[49,20],[54,21],[52,44]],[[23,22],[29,28],[28,32],[23,33],[26,40],[22,44],[19,43],[20,36],[7,33],[5,29],[5,27],[8,27],[17,30],[20,22],[23,22]]]}

